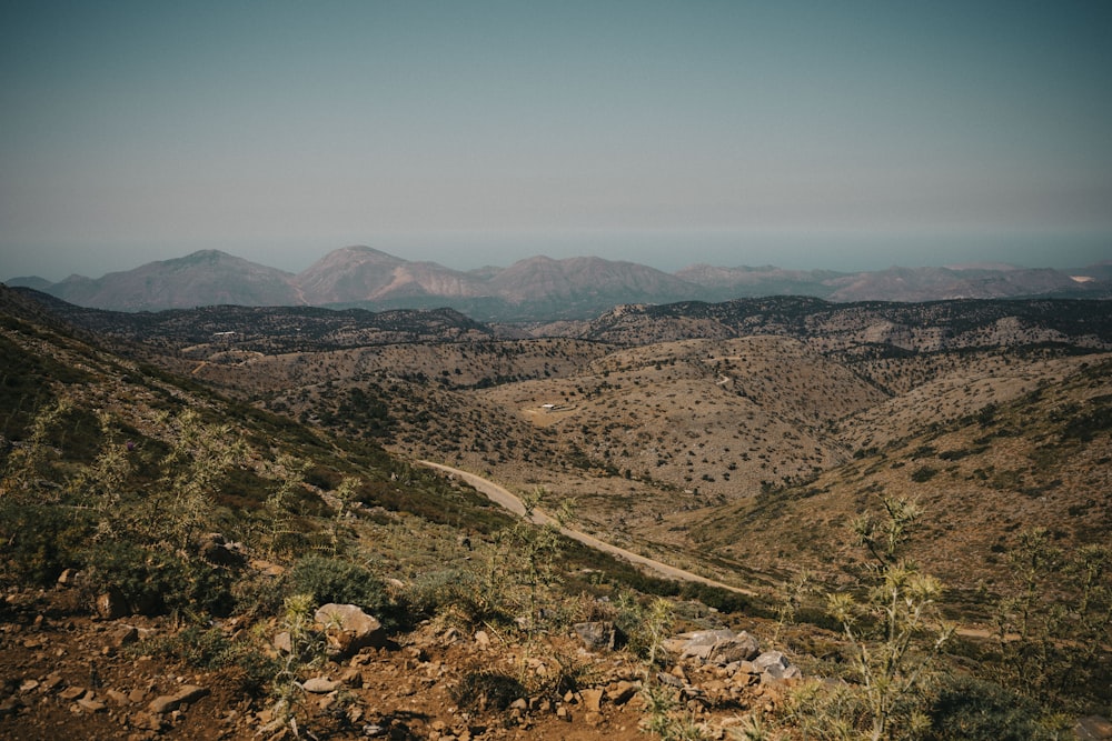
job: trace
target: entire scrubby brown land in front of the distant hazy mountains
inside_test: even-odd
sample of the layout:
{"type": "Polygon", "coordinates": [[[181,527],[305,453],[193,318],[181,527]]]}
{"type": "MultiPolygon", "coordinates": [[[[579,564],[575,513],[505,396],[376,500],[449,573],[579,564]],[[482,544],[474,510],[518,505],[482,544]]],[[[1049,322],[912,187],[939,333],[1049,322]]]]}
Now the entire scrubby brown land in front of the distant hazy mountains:
{"type": "Polygon", "coordinates": [[[1108,731],[1106,303],[0,296],[0,732],[1108,731]]]}

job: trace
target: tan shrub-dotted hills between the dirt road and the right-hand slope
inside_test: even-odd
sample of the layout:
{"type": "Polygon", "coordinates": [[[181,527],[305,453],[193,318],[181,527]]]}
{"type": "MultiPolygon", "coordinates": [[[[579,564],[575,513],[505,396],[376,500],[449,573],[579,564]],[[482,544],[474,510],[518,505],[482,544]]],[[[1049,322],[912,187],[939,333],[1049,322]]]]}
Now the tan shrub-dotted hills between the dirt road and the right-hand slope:
{"type": "MultiPolygon", "coordinates": [[[[587,529],[691,565],[706,555],[687,534],[692,513],[810,482],[1082,372],[1112,347],[1100,309],[785,297],[620,307],[560,326],[574,338],[476,326],[444,341],[353,332],[336,349],[268,341],[259,324],[254,338],[181,340],[173,362],[270,411],[573,497],[587,529]]],[[[723,563],[699,568],[775,581],[723,563]]],[[[780,573],[775,559],[766,567],[780,573]]]]}

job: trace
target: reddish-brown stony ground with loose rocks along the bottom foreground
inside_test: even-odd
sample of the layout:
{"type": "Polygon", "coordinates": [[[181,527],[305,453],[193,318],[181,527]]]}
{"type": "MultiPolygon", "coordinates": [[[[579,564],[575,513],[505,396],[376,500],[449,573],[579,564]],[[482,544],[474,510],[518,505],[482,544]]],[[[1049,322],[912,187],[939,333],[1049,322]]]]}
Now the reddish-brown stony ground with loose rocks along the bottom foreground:
{"type": "MultiPolygon", "coordinates": [[[[282,653],[272,621],[219,628],[230,641],[267,635],[271,658],[282,653]]],[[[167,618],[100,618],[76,589],[9,592],[0,738],[623,741],[651,738],[641,730],[648,681],[684,719],[724,739],[798,677],[782,654],[724,627],[673,638],[667,670],[646,672],[629,651],[608,648],[606,624],[523,643],[427,622],[302,671],[296,723],[276,727],[272,698],[250,685],[247,667],[198,669],[158,648],[179,630],[167,618]]]]}

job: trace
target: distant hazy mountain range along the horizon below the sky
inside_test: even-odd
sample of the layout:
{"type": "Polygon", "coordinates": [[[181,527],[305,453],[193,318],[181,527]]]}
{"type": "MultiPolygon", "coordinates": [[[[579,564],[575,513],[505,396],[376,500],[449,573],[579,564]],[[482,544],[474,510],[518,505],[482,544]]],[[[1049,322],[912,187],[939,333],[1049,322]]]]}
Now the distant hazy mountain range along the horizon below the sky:
{"type": "Polygon", "coordinates": [[[51,283],[22,277],[7,284],[33,288],[82,307],[116,311],[216,304],[371,310],[448,307],[480,321],[535,321],[583,319],[624,303],[784,294],[836,302],[1108,299],[1112,298],[1112,261],[1070,271],[990,264],[894,267],[846,273],[695,264],[667,273],[635,262],[595,257],[554,260],[538,256],[508,268],[458,271],[369,247],[346,247],[296,274],[219,250],[202,250],[96,279],[71,276],[51,283]]]}

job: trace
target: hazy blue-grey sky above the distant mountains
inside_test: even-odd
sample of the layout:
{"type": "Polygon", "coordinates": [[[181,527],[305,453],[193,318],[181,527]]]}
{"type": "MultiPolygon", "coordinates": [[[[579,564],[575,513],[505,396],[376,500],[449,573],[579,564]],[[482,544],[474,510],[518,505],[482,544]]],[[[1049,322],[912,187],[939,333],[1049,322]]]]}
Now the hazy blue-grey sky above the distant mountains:
{"type": "Polygon", "coordinates": [[[1108,0],[0,0],[0,278],[1083,266],[1110,39],[1108,0]]]}

